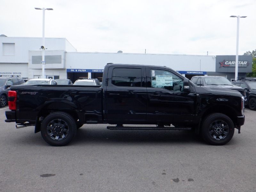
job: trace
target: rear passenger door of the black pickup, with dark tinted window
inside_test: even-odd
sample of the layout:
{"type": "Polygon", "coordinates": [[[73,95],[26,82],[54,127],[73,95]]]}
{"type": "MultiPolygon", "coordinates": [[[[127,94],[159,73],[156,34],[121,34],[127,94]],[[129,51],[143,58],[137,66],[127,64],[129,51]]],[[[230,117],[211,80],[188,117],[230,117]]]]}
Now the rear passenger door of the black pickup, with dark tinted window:
{"type": "Polygon", "coordinates": [[[109,123],[144,123],[147,113],[146,68],[111,66],[105,105],[109,123]]]}

